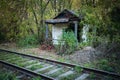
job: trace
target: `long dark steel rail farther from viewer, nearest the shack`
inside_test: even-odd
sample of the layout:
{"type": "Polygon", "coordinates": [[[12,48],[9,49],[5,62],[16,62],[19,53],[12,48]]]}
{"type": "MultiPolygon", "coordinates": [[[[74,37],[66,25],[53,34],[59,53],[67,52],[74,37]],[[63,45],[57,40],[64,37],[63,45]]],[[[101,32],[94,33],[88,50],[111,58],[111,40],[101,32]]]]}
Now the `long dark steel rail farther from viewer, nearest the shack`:
{"type": "Polygon", "coordinates": [[[47,62],[51,62],[51,63],[61,64],[61,65],[69,66],[69,67],[73,67],[73,68],[81,67],[81,68],[83,68],[84,71],[89,71],[89,72],[93,72],[93,73],[97,73],[97,74],[101,74],[101,75],[106,75],[106,76],[111,76],[111,77],[114,77],[114,78],[120,78],[120,74],[113,73],[113,72],[108,72],[108,71],[103,71],[103,70],[98,70],[98,69],[93,69],[93,68],[86,68],[86,67],[76,65],[76,64],[70,64],[70,63],[66,63],[66,62],[60,62],[60,61],[56,61],[56,60],[45,59],[45,58],[42,58],[42,57],[36,57],[36,56],[23,54],[23,53],[18,53],[18,52],[13,52],[13,51],[4,50],[4,49],[0,49],[0,51],[9,52],[9,53],[13,53],[13,54],[21,55],[21,56],[26,56],[26,57],[30,57],[30,58],[34,58],[34,59],[39,59],[39,60],[43,60],[43,61],[47,61],[47,62]]]}

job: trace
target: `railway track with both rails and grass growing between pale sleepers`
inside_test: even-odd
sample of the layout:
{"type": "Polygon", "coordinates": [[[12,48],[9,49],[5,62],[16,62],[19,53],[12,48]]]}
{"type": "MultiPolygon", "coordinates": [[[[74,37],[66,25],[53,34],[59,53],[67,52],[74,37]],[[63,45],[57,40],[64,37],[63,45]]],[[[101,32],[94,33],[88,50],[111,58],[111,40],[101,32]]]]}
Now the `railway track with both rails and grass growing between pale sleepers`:
{"type": "Polygon", "coordinates": [[[40,76],[43,80],[120,80],[116,73],[3,49],[0,49],[0,63],[16,66],[26,74],[40,76]]]}

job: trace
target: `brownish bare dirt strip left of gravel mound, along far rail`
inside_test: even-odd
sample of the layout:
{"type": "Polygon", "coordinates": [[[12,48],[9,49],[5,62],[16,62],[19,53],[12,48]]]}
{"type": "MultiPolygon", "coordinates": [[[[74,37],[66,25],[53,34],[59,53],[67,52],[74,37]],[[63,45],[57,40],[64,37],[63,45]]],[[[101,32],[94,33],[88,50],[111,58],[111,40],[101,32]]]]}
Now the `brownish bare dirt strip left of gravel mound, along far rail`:
{"type": "Polygon", "coordinates": [[[5,44],[0,44],[0,48],[16,51],[20,53],[36,55],[36,56],[45,57],[45,58],[56,59],[58,57],[55,54],[54,50],[50,50],[50,51],[42,50],[39,46],[36,48],[20,48],[20,47],[17,47],[15,43],[5,43],[5,44]]]}

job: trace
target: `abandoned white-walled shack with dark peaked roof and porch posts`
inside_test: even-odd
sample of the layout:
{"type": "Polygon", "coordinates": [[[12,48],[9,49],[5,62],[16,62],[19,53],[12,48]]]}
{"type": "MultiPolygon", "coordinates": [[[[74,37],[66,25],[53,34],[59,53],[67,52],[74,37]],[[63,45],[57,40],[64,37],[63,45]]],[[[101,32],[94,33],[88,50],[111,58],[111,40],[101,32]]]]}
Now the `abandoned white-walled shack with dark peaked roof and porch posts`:
{"type": "Polygon", "coordinates": [[[46,20],[46,39],[48,38],[48,24],[52,24],[52,40],[53,44],[58,44],[60,36],[63,34],[63,30],[72,30],[77,40],[80,40],[80,18],[70,10],[63,10],[53,19],[46,20]]]}

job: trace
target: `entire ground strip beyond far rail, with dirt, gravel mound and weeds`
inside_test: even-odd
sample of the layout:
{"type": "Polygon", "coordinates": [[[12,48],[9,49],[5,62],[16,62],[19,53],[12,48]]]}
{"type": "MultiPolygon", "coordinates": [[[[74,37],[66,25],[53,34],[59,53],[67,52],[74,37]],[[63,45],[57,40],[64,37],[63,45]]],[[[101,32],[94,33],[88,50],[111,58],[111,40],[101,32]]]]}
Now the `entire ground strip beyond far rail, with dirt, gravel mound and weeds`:
{"type": "MultiPolygon", "coordinates": [[[[58,60],[61,62],[79,64],[81,66],[85,66],[89,68],[103,69],[107,71],[111,71],[111,68],[112,68],[112,71],[116,71],[117,73],[120,73],[119,54],[118,56],[110,57],[109,58],[110,60],[108,62],[106,61],[105,55],[108,55],[109,53],[108,54],[103,53],[104,51],[103,47],[101,51],[94,49],[92,47],[85,47],[83,50],[78,50],[71,55],[64,55],[64,56],[57,55],[54,49],[42,50],[41,46],[37,46],[34,48],[32,47],[20,48],[20,47],[17,47],[15,43],[0,44],[0,49],[7,49],[10,51],[21,52],[21,53],[48,58],[52,60],[58,60]]],[[[117,52],[119,53],[119,51],[117,52]]],[[[110,55],[112,54],[110,53],[110,55]]]]}

